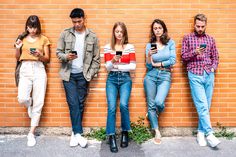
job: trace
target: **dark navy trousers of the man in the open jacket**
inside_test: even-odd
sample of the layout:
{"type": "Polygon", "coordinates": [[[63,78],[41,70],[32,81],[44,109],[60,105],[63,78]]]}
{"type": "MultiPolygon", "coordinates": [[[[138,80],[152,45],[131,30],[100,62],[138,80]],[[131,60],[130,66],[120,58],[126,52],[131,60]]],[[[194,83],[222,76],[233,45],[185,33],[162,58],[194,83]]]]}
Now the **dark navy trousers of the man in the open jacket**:
{"type": "Polygon", "coordinates": [[[83,133],[82,119],[84,102],[87,96],[88,82],[83,73],[71,73],[69,81],[63,81],[66,100],[70,109],[70,119],[74,134],[83,133]]]}

